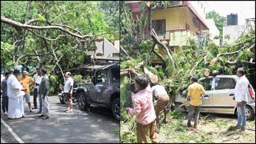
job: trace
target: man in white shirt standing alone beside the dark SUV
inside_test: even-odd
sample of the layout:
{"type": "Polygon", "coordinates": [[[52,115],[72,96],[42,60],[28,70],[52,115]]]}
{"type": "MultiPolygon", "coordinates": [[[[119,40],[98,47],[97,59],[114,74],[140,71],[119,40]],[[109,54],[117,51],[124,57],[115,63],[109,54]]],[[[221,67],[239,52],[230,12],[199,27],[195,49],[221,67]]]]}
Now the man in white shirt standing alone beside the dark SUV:
{"type": "Polygon", "coordinates": [[[73,89],[74,81],[70,76],[71,76],[70,72],[67,72],[65,74],[66,82],[64,86],[64,93],[66,94],[65,98],[67,101],[66,113],[73,112],[72,89],[73,89]]]}

